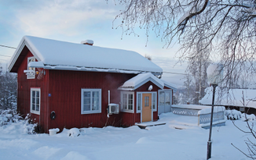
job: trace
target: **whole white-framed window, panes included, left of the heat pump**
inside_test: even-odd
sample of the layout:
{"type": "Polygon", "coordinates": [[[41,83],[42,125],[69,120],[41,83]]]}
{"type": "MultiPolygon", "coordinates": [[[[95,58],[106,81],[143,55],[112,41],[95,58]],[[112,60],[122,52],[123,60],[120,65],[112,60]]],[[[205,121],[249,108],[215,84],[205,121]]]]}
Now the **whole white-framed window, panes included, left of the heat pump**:
{"type": "Polygon", "coordinates": [[[81,114],[101,112],[101,89],[82,89],[81,114]]]}

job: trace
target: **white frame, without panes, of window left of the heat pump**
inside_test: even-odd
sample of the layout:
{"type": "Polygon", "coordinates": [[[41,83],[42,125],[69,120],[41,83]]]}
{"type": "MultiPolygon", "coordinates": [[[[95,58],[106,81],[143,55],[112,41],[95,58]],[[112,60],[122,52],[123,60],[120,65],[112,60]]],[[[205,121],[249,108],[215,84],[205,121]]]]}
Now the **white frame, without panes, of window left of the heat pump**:
{"type": "Polygon", "coordinates": [[[91,114],[91,113],[101,113],[101,89],[89,89],[89,88],[82,88],[81,89],[81,114],[91,114]],[[90,111],[83,111],[83,97],[84,97],[84,92],[85,91],[90,91],[90,111]],[[92,92],[93,91],[98,91],[99,92],[99,109],[98,110],[92,110],[92,105],[93,105],[93,101],[92,101],[92,92]]]}

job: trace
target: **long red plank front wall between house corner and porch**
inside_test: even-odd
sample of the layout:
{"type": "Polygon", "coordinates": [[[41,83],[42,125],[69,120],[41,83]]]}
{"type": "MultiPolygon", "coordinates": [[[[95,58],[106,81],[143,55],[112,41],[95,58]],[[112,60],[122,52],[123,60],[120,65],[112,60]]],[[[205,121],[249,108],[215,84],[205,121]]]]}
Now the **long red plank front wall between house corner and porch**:
{"type": "MultiPolygon", "coordinates": [[[[49,70],[49,113],[56,112],[56,119],[49,119],[49,128],[62,130],[71,127],[103,127],[107,123],[108,90],[111,103],[119,104],[120,87],[135,76],[123,73],[99,73],[67,70],[49,70]],[[81,89],[101,88],[101,113],[81,114],[81,89]]],[[[48,114],[49,114],[48,113],[48,114]]],[[[107,125],[122,126],[122,112],[113,114],[107,125]]]]}

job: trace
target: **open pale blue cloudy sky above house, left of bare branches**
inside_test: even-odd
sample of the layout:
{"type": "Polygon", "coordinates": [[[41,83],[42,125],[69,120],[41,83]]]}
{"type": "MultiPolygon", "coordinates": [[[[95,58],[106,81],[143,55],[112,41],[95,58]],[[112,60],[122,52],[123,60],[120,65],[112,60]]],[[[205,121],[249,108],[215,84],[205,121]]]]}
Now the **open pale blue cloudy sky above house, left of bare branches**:
{"type": "MultiPolygon", "coordinates": [[[[60,41],[80,43],[86,39],[93,45],[121,48],[152,56],[152,62],[164,72],[184,73],[186,64],[177,64],[177,46],[163,48],[155,34],[148,43],[145,30],[137,30],[139,37],[123,35],[113,20],[123,6],[102,0],[0,0],[0,44],[17,47],[24,35],[45,37],[60,41]],[[114,27],[114,29],[112,29],[114,27]],[[121,39],[122,38],[122,39],[121,39]],[[145,45],[147,44],[147,47],[145,45]]],[[[6,66],[15,50],[0,47],[0,63],[6,66]],[[2,56],[6,55],[6,56],[2,56]]],[[[182,85],[183,75],[163,74],[163,80],[182,85]]]]}

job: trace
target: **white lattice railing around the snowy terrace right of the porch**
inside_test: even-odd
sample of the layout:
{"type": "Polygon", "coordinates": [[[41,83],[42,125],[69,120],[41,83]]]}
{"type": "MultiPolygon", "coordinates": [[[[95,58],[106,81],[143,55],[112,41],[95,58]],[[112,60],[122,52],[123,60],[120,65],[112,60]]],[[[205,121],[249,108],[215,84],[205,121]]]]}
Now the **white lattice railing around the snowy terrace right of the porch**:
{"type": "MultiPolygon", "coordinates": [[[[198,126],[206,126],[204,124],[210,123],[210,112],[199,113],[201,109],[197,108],[178,108],[172,107],[172,112],[177,115],[183,116],[198,116],[198,126]]],[[[213,115],[213,123],[214,122],[224,122],[225,121],[225,110],[221,110],[218,112],[214,111],[213,115]]],[[[210,125],[210,124],[209,124],[210,125]]]]}

